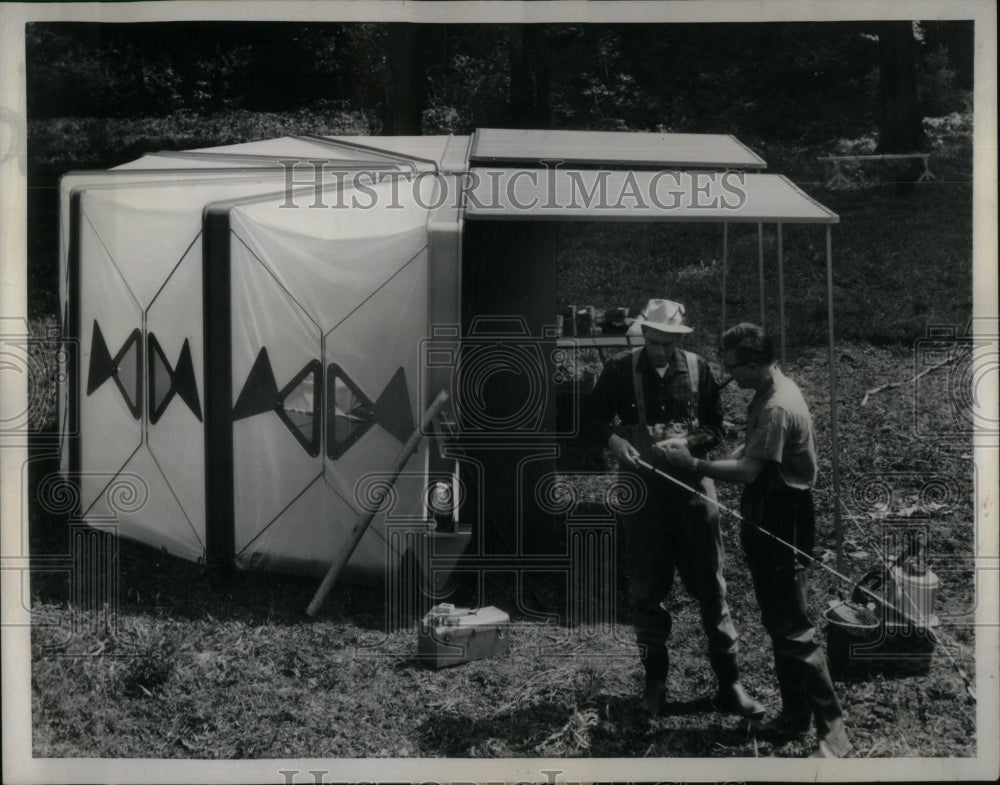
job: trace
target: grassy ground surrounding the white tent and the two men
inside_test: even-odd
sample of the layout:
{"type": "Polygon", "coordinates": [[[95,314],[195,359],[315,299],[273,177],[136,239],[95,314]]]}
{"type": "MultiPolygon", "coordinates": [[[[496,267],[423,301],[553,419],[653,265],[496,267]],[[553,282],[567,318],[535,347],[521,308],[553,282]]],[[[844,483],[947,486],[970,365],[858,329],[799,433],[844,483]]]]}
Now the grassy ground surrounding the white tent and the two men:
{"type": "MultiPolygon", "coordinates": [[[[857,580],[873,566],[893,526],[925,529],[932,567],[941,565],[936,610],[946,625],[930,672],[837,681],[858,757],[966,757],[977,749],[975,702],[945,656],[947,649],[961,668],[974,673],[975,467],[968,433],[957,427],[961,416],[952,414],[958,369],[933,371],[919,386],[909,381],[921,367],[915,358],[926,326],[963,325],[971,312],[971,189],[962,177],[971,170],[969,148],[962,141],[961,118],[941,127],[940,155],[932,159],[941,181],[902,193],[872,183],[826,189],[815,157],[828,149],[760,148],[772,171],[788,174],[841,216],[834,230],[834,284],[845,571],[857,580]],[[866,392],[887,382],[902,384],[872,394],[862,406],[866,392]]],[[[821,458],[818,553],[834,565],[824,240],[813,227],[787,227],[783,239],[785,369],[800,383],[814,414],[821,458]]],[[[717,228],[574,225],[563,240],[560,306],[679,299],[696,327],[688,345],[718,371],[712,349],[721,310],[717,228]]],[[[734,229],[730,322],[758,313],[756,249],[755,232],[734,229]]],[[[766,252],[773,326],[771,240],[766,252]]],[[[45,335],[53,324],[46,317],[33,329],[45,335]]],[[[57,369],[51,347],[42,342],[36,349],[33,399],[38,422],[51,429],[57,369]]],[[[727,389],[731,443],[742,433],[746,403],[744,393],[727,389]]],[[[32,499],[34,489],[57,470],[46,449],[36,445],[29,473],[32,499]]],[[[600,478],[590,482],[596,493],[600,478]]],[[[725,485],[720,490],[723,504],[736,506],[736,490],[725,485]]],[[[32,505],[32,553],[65,552],[65,518],[37,500],[32,505]]],[[[723,526],[744,681],[774,709],[770,648],[740,554],[738,527],[730,517],[723,526]]],[[[220,584],[198,565],[140,545],[108,540],[105,547],[115,554],[119,587],[106,607],[88,611],[68,602],[65,576],[32,576],[35,756],[721,758],[797,757],[811,751],[796,742],[755,744],[733,718],[704,710],[699,701],[714,685],[694,603],[680,588],[669,599],[675,615],[670,677],[675,713],[646,720],[638,712],[641,669],[620,584],[606,594],[614,598],[608,624],[574,627],[539,621],[522,607],[509,580],[490,574],[483,603],[511,612],[511,653],[435,671],[414,656],[413,625],[384,629],[387,613],[379,590],[337,586],[321,613],[307,619],[303,609],[316,588],[313,582],[240,574],[234,583],[220,584]]],[[[565,619],[560,581],[542,577],[533,588],[536,599],[565,619]]],[[[850,588],[814,568],[814,616],[850,588]]]]}

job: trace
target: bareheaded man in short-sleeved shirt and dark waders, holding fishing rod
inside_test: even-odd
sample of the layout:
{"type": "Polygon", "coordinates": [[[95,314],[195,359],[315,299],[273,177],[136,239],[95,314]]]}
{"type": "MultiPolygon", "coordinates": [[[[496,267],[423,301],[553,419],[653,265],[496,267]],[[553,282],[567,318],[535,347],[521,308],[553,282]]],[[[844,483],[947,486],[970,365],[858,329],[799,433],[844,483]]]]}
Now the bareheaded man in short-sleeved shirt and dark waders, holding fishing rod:
{"type": "Polygon", "coordinates": [[[851,745],[806,609],[805,567],[815,537],[812,487],[817,474],[812,418],[799,388],[774,364],[774,347],[762,328],[736,325],[722,336],[721,348],[726,371],[741,388],[755,391],[746,441],[726,460],[699,460],[673,444],[664,448],[664,458],[677,470],[744,484],[743,550],[774,648],[782,704],[777,717],[751,722],[750,730],[787,740],[804,736],[815,720],[815,756],[843,757],[851,745]]]}

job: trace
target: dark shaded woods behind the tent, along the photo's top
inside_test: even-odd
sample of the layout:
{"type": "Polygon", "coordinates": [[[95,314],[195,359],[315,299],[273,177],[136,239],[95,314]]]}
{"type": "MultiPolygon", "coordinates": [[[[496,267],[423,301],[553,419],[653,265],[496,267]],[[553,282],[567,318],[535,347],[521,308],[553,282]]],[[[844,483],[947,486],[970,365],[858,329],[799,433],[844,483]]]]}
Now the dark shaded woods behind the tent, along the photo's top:
{"type": "MultiPolygon", "coordinates": [[[[964,22],[715,25],[32,24],[29,296],[54,313],[67,170],[286,133],[477,127],[925,146],[970,109],[964,22]]],[[[822,152],[820,153],[822,154],[822,152]]]]}

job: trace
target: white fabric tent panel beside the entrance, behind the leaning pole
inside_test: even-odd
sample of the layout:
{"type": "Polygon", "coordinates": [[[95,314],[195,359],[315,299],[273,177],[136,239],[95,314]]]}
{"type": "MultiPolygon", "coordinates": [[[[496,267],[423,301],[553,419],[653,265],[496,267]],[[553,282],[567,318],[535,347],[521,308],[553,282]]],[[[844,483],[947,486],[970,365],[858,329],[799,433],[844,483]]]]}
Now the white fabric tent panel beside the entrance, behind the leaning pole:
{"type": "MultiPolygon", "coordinates": [[[[395,415],[411,430],[419,418],[429,211],[412,189],[375,188],[375,198],[365,201],[369,209],[292,210],[272,199],[229,213],[234,405],[265,351],[278,389],[319,362],[312,387],[293,397],[300,409],[334,395],[334,374],[376,409],[376,424],[335,457],[329,443],[311,455],[273,413],[234,423],[235,548],[243,566],[294,565],[296,572],[321,574],[365,511],[361,485],[385,471],[409,435],[400,439],[377,424],[380,395],[400,370],[406,411],[395,415]]],[[[323,409],[328,442],[333,402],[305,417],[322,416],[323,409]]],[[[407,471],[422,477],[422,460],[411,459],[407,471]]],[[[383,527],[384,519],[376,519],[362,540],[351,561],[356,573],[381,575],[398,557],[387,558],[383,527]]]]}

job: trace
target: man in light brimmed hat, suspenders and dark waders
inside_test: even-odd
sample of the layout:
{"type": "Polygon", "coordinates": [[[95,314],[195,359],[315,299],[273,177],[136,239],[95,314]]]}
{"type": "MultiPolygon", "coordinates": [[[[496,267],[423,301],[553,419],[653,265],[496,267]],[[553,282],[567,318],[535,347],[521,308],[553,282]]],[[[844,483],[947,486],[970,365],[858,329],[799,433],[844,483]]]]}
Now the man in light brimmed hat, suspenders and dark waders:
{"type": "Polygon", "coordinates": [[[711,480],[669,469],[653,449],[675,440],[684,442],[691,455],[705,456],[722,438],[720,388],[708,363],[678,347],[689,332],[683,305],[650,300],[629,327],[629,334],[642,335],[645,345],[605,364],[594,387],[591,425],[621,469],[637,473],[645,485],[641,506],[620,520],[632,623],[646,672],[643,707],[659,714],[666,699],[672,620],[663,600],[673,585],[676,566],[685,588],[698,601],[708,636],[709,662],[719,680],[715,706],[757,717],[764,708],[739,680],[737,636],[722,575],[725,554],[718,509],[636,462],[641,459],[668,471],[715,498],[711,480]]]}

